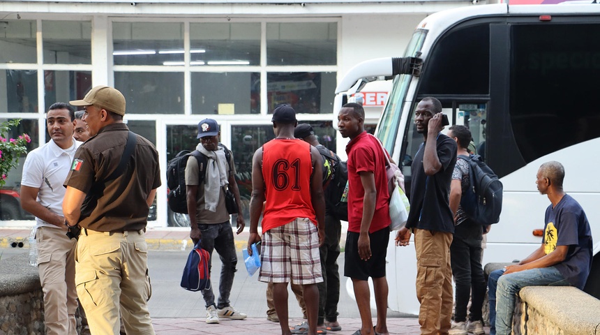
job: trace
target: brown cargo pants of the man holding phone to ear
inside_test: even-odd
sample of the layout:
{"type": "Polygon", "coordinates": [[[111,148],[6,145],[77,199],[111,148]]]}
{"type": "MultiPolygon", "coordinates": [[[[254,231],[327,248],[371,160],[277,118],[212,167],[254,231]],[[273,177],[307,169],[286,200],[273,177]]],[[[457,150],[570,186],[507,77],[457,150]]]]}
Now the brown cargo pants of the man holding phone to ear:
{"type": "Polygon", "coordinates": [[[417,252],[417,299],[421,334],[448,334],[452,317],[452,269],[449,232],[414,230],[417,252]]]}

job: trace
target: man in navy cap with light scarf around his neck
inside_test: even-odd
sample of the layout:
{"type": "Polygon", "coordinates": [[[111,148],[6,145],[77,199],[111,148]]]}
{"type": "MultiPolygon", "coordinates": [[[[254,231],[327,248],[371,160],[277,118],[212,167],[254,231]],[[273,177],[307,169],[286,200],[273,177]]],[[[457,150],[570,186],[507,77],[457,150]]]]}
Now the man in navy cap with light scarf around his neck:
{"type": "MultiPolygon", "coordinates": [[[[227,148],[219,145],[219,136],[217,121],[213,119],[200,121],[198,124],[200,143],[196,150],[200,151],[202,156],[197,153],[192,154],[186,164],[186,200],[190,216],[190,238],[194,244],[200,241],[200,246],[211,255],[213,249],[216,250],[223,262],[217,304],[215,304],[212,285],[207,290],[202,290],[207,306],[207,323],[219,323],[220,318],[242,320],[247,316],[231,306],[229,300],[236,271],[237,253],[230,213],[225,206],[226,188],[233,193],[238,208],[241,202],[234,177],[233,157],[227,148]]],[[[237,234],[242,232],[245,225],[243,216],[237,215],[237,234]]]]}

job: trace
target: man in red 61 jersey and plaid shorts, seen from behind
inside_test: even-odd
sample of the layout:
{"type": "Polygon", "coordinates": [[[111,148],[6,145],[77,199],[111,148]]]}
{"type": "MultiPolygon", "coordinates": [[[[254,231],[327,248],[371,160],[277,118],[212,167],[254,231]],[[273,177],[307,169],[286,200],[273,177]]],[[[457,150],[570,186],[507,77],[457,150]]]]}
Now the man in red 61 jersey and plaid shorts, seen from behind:
{"type": "Polygon", "coordinates": [[[250,246],[261,240],[258,279],[273,283],[281,334],[292,334],[287,320],[287,283],[303,286],[308,334],[317,334],[319,290],[323,281],[319,246],[324,241],[325,199],[319,151],[294,138],[296,112],[290,105],[273,110],[274,140],[259,148],[252,161],[250,246]]]}

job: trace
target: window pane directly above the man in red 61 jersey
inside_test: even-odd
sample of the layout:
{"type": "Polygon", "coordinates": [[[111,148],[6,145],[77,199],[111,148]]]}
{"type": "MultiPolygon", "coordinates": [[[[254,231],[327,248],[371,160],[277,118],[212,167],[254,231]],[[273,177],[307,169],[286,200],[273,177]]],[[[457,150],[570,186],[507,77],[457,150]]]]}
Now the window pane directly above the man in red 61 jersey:
{"type": "Polygon", "coordinates": [[[333,113],[336,73],[267,73],[269,113],[277,105],[287,103],[297,113],[333,113]]]}

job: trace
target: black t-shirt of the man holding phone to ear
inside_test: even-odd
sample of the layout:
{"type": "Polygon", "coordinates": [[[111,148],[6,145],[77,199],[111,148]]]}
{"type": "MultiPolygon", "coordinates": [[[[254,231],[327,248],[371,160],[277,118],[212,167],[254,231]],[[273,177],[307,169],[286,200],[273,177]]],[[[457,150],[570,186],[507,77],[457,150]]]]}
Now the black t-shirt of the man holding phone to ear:
{"type": "Polygon", "coordinates": [[[407,228],[454,232],[454,220],[449,207],[450,182],[456,164],[456,142],[440,133],[437,135],[437,158],[442,170],[428,176],[423,170],[425,143],[412,161],[410,212],[407,228]]]}

